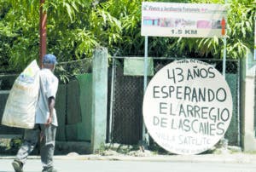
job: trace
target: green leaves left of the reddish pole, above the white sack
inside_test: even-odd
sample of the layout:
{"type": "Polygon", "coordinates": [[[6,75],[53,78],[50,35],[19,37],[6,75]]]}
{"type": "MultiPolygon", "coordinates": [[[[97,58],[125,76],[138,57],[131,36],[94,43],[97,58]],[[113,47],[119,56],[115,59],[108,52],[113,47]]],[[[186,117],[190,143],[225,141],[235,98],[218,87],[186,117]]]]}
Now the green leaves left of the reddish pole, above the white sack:
{"type": "Polygon", "coordinates": [[[1,14],[3,17],[0,20],[1,37],[6,37],[0,59],[8,59],[10,67],[16,70],[38,56],[38,14],[33,10],[32,1],[30,3],[28,7],[27,2],[22,0],[1,2],[1,6],[8,9],[3,10],[5,13],[1,14]]]}

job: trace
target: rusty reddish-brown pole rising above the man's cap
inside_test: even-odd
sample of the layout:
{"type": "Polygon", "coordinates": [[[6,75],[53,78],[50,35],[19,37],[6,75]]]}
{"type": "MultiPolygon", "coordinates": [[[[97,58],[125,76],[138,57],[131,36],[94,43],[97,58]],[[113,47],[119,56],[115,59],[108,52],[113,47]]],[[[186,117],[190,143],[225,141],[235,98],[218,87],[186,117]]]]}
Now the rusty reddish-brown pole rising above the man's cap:
{"type": "Polygon", "coordinates": [[[43,5],[45,0],[40,0],[40,50],[39,50],[39,65],[43,66],[43,57],[46,54],[46,20],[47,14],[44,12],[43,5]]]}

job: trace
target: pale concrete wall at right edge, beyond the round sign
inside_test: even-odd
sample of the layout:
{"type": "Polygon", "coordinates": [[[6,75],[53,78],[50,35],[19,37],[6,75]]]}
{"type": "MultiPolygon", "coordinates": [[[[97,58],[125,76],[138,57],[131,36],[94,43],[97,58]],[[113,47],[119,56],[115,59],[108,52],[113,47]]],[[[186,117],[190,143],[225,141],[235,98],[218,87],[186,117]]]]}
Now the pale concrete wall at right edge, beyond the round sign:
{"type": "Polygon", "coordinates": [[[247,58],[241,60],[241,131],[242,147],[245,152],[256,151],[255,72],[256,60],[253,60],[252,52],[248,52],[247,58]]]}

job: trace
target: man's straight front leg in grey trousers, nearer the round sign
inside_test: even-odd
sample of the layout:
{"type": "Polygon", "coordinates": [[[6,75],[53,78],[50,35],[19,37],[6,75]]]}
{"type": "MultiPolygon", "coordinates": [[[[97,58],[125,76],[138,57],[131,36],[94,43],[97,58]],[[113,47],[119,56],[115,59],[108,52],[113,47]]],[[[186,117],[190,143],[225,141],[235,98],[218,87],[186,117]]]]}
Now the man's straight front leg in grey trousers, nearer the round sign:
{"type": "Polygon", "coordinates": [[[53,170],[53,156],[55,151],[55,135],[56,127],[52,124],[49,126],[41,125],[41,129],[44,133],[43,140],[41,142],[41,161],[43,163],[43,171],[53,170]]]}

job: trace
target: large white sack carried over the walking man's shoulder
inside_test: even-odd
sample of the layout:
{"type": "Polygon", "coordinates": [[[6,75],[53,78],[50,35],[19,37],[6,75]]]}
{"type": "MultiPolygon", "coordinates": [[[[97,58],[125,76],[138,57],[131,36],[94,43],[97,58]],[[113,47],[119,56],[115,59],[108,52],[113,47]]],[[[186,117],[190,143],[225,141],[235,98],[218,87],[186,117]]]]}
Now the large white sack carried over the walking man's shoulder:
{"type": "Polygon", "coordinates": [[[6,102],[2,124],[10,127],[32,129],[38,103],[39,72],[36,60],[16,78],[6,102]]]}

